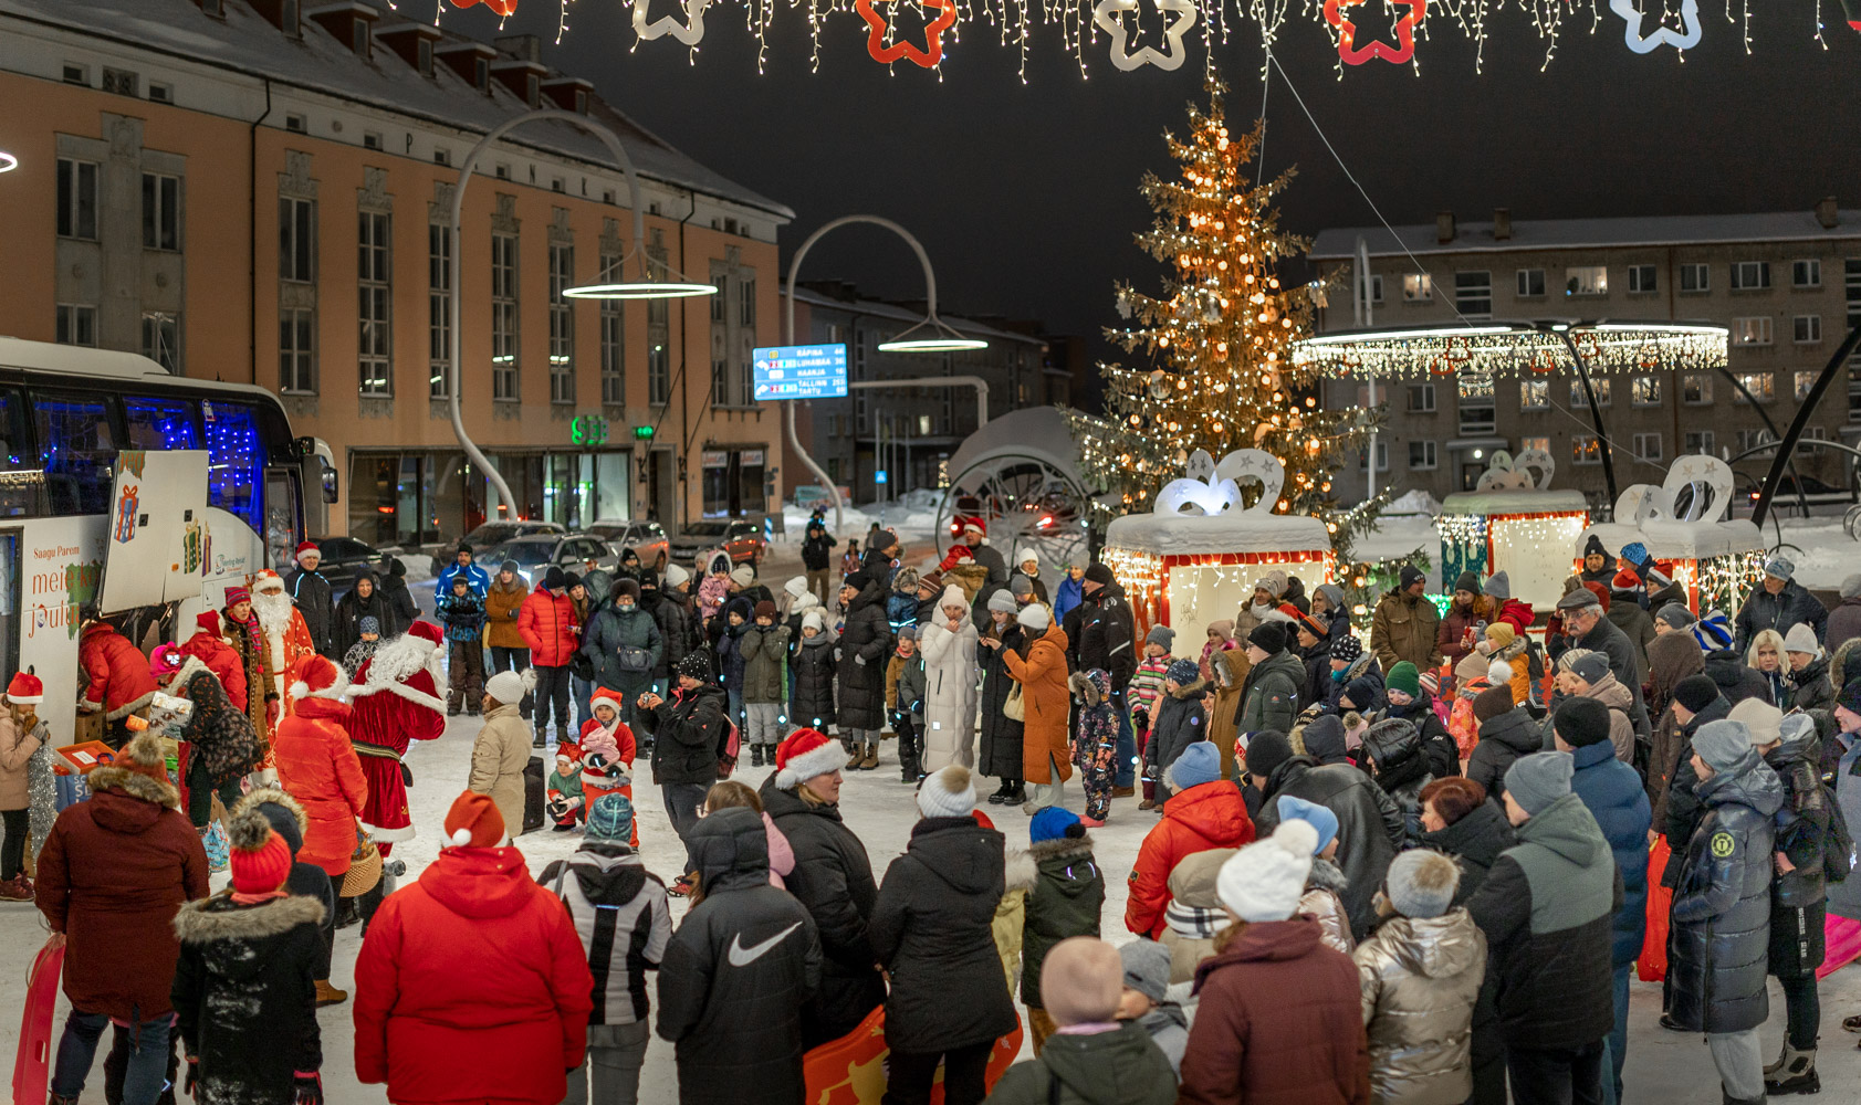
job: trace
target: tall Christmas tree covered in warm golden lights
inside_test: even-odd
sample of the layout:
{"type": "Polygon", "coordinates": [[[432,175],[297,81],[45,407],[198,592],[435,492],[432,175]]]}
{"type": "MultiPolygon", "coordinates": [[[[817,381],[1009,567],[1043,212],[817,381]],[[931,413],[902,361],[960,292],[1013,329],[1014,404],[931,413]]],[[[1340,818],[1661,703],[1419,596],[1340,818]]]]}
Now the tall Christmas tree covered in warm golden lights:
{"type": "Polygon", "coordinates": [[[1081,469],[1109,491],[1102,502],[1111,513],[1128,513],[1150,510],[1158,487],[1180,476],[1197,448],[1217,459],[1264,448],[1286,465],[1273,510],[1323,519],[1349,564],[1351,539],[1373,525],[1386,495],[1340,510],[1332,473],[1357,463],[1372,420],[1366,411],[1321,409],[1314,376],[1293,365],[1293,344],[1310,331],[1323,296],[1321,286],[1286,286],[1277,272],[1310,247],[1280,233],[1273,208],[1293,173],[1247,180],[1262,123],[1232,134],[1223,91],[1210,82],[1210,108],[1189,108],[1187,138],[1165,136],[1182,177],[1145,175],[1141,192],[1156,221],[1137,244],[1172,275],[1161,298],[1118,286],[1118,313],[1135,326],[1105,337],[1126,352],[1143,350],[1150,366],[1100,365],[1105,415],[1072,415],[1081,469]]]}

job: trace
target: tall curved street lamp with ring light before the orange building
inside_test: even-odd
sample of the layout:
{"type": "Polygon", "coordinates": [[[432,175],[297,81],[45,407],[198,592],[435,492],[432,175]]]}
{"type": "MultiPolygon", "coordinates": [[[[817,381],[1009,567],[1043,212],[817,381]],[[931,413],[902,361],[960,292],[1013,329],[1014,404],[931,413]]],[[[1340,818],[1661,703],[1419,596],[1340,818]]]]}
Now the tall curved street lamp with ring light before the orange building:
{"type": "MultiPolygon", "coordinates": [[[[471,435],[465,433],[465,419],[460,413],[460,391],[462,391],[462,387],[460,387],[460,383],[462,383],[462,379],[460,379],[460,361],[462,361],[460,346],[463,344],[463,333],[462,333],[463,285],[462,285],[462,281],[463,281],[463,268],[465,268],[463,251],[460,249],[460,238],[462,238],[460,223],[462,223],[463,214],[465,214],[465,186],[471,182],[473,167],[478,166],[478,156],[484,154],[484,151],[489,149],[489,145],[493,141],[497,141],[499,138],[502,138],[506,132],[510,132],[510,130],[514,130],[517,126],[523,126],[525,123],[545,123],[545,121],[551,121],[551,123],[568,123],[569,126],[579,126],[581,130],[584,130],[584,132],[599,138],[601,143],[607,145],[609,153],[614,154],[614,162],[620,166],[620,175],[627,179],[627,197],[629,197],[627,201],[633,205],[633,247],[627,249],[627,255],[622,257],[620,262],[614,264],[609,270],[610,273],[618,275],[620,279],[612,281],[612,283],[584,285],[584,286],[566,288],[562,292],[562,296],[564,298],[571,298],[571,300],[677,300],[677,298],[685,298],[685,296],[715,296],[716,294],[716,285],[702,285],[702,283],[696,283],[696,281],[689,281],[685,277],[685,273],[681,273],[677,270],[672,270],[670,266],[657,266],[657,268],[661,270],[661,275],[674,277],[674,279],[653,279],[653,268],[655,266],[651,264],[651,260],[646,255],[646,201],[640,197],[640,179],[635,175],[635,171],[633,171],[633,160],[627,158],[627,151],[625,151],[625,147],[620,145],[620,138],[612,130],[609,130],[607,126],[603,126],[601,123],[596,123],[594,119],[590,119],[586,115],[577,115],[575,112],[560,112],[560,110],[555,110],[555,108],[543,108],[543,110],[538,110],[538,112],[525,112],[523,115],[517,115],[514,119],[506,119],[504,123],[499,123],[497,126],[491,128],[489,134],[486,134],[484,138],[478,140],[478,145],[471,147],[471,153],[465,154],[465,162],[460,164],[460,182],[458,182],[458,188],[452,190],[452,264],[450,264],[450,270],[452,270],[452,273],[450,273],[452,275],[452,283],[450,283],[450,288],[452,288],[452,311],[450,311],[450,314],[452,314],[452,342],[450,342],[450,346],[452,348],[449,350],[449,357],[450,357],[452,363],[447,366],[449,368],[449,376],[452,379],[452,387],[450,387],[450,396],[447,400],[447,406],[452,409],[452,435],[458,437],[460,448],[465,450],[465,456],[471,459],[471,463],[478,465],[484,471],[484,474],[497,487],[499,497],[502,497],[504,508],[512,510],[512,512],[515,510],[515,497],[510,493],[510,484],[504,482],[502,473],[499,473],[491,465],[491,461],[484,456],[484,450],[480,450],[473,443],[471,435]],[[627,262],[633,260],[635,257],[638,257],[638,262],[636,262],[638,264],[638,279],[629,281],[629,279],[625,279],[627,262]]],[[[607,275],[607,273],[603,273],[603,275],[607,275]]]]}

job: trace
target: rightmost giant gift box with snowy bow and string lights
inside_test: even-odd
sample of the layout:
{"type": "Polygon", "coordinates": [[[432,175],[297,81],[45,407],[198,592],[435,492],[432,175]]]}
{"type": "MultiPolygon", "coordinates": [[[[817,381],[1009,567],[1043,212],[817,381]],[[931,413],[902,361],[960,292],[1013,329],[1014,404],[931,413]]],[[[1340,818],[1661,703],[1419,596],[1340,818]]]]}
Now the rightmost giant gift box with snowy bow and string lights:
{"type": "Polygon", "coordinates": [[[1615,500],[1615,521],[1599,523],[1576,538],[1574,554],[1595,534],[1617,556],[1640,543],[1654,560],[1673,564],[1695,614],[1736,614],[1746,593],[1764,577],[1764,536],[1749,519],[1727,519],[1733,469],[1716,456],[1692,454],[1673,461],[1662,486],[1632,484],[1615,500]]]}

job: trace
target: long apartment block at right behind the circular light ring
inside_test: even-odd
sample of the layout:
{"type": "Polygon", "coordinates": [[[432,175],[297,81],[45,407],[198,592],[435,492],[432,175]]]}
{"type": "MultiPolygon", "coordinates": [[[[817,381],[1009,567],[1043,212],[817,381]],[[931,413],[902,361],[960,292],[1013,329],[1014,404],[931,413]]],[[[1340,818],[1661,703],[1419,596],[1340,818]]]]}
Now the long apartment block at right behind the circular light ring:
{"type": "MultiPolygon", "coordinates": [[[[1723,216],[1656,216],[1340,227],[1323,231],[1312,260],[1334,279],[1319,331],[1353,329],[1347,288],[1357,246],[1370,255],[1375,327],[1455,326],[1461,320],[1666,320],[1714,322],[1731,331],[1727,374],[1653,370],[1599,376],[1617,486],[1658,484],[1679,454],[1747,454],[1734,469],[1762,478],[1800,400],[1861,326],[1861,210],[1835,199],[1813,210],[1723,216]],[[1734,383],[1736,381],[1736,383],[1734,383]],[[1768,417],[1768,424],[1766,424],[1768,417]],[[1759,450],[1751,454],[1749,450],[1759,450]]],[[[1546,448],[1558,487],[1606,499],[1602,448],[1574,372],[1530,379],[1427,376],[1385,379],[1386,417],[1377,441],[1377,486],[1424,489],[1435,499],[1472,489],[1491,452],[1546,448]]],[[[1368,400],[1360,379],[1329,379],[1327,406],[1368,400]]],[[[1857,445],[1861,361],[1818,404],[1805,437],[1857,445]]],[[[1796,471],[1850,486],[1848,456],[1800,446],[1796,471]]],[[[1340,474],[1346,495],[1368,484],[1368,450],[1340,474]]]]}

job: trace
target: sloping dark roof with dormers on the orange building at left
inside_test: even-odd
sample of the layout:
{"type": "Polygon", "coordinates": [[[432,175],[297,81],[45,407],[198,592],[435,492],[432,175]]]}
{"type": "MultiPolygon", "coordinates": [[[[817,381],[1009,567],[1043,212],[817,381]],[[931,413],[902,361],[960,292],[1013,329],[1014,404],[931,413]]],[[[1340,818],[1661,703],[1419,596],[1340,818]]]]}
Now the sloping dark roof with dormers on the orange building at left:
{"type": "MultiPolygon", "coordinates": [[[[378,32],[413,22],[382,4],[370,7],[378,13],[378,32]]],[[[376,47],[374,56],[365,60],[309,17],[301,20],[303,35],[290,37],[244,0],[227,0],[223,20],[201,13],[192,0],[0,0],[0,15],[270,78],[465,132],[486,134],[529,110],[499,82],[493,80],[491,95],[484,95],[439,61],[434,63],[434,76],[426,78],[385,47],[376,47]]],[[[469,41],[475,39],[441,28],[439,48],[469,41]]],[[[620,136],[642,177],[756,206],[782,220],[795,218],[785,205],[698,164],[612,104],[590,97],[588,113],[620,136]]],[[[607,147],[566,123],[534,123],[506,141],[614,171],[607,147]]]]}

